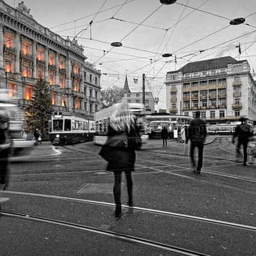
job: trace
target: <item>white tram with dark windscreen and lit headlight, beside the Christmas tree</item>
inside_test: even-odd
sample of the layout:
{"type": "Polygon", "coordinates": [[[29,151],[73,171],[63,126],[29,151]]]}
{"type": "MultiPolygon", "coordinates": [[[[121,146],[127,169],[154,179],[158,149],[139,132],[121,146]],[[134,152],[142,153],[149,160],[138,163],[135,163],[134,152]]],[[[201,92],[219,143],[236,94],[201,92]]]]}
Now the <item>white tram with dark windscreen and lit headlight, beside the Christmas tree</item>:
{"type": "Polygon", "coordinates": [[[49,121],[49,139],[54,145],[93,141],[95,121],[72,116],[68,112],[54,113],[49,121]]]}

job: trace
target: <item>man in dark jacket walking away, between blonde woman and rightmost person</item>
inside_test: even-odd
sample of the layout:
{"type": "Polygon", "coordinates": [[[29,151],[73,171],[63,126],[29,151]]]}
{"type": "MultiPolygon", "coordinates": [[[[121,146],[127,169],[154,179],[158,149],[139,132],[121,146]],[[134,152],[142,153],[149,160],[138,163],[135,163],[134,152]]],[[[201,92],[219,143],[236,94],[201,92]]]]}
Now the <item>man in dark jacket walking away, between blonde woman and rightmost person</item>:
{"type": "Polygon", "coordinates": [[[200,111],[196,111],[195,118],[190,121],[188,127],[188,139],[186,140],[186,143],[188,143],[188,140],[191,141],[190,159],[193,166],[196,167],[194,172],[197,174],[200,174],[203,165],[204,142],[206,135],[207,131],[205,122],[204,120],[200,119],[200,111]],[[194,159],[195,148],[198,148],[197,166],[194,159]]]}

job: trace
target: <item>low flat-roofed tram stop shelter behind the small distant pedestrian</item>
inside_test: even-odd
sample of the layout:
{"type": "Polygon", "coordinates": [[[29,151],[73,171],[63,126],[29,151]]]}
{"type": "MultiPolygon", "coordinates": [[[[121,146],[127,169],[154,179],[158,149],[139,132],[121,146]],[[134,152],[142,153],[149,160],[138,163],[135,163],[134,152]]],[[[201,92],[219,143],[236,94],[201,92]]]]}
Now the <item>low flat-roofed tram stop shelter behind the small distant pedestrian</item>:
{"type": "Polygon", "coordinates": [[[161,138],[161,131],[165,126],[169,138],[177,138],[180,127],[189,125],[191,116],[170,115],[168,113],[153,113],[145,117],[147,122],[147,134],[150,139],[161,138]]]}

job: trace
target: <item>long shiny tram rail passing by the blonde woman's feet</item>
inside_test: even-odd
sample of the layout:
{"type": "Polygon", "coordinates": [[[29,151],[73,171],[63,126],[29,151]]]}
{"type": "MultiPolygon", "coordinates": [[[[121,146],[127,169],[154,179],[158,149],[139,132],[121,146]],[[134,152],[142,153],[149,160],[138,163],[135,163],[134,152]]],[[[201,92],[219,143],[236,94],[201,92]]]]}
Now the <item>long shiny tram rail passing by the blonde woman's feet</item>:
{"type": "MultiPolygon", "coordinates": [[[[36,194],[36,193],[26,193],[26,192],[20,192],[20,191],[0,191],[0,194],[7,194],[7,195],[18,195],[18,196],[31,196],[31,197],[38,197],[38,198],[46,198],[46,199],[54,199],[54,200],[66,200],[66,201],[72,201],[72,202],[80,202],[84,204],[94,204],[94,205],[103,205],[107,207],[115,207],[115,204],[108,203],[108,202],[100,202],[95,200],[86,200],[82,198],[70,198],[67,196],[56,196],[56,195],[44,195],[44,194],[36,194]]],[[[214,220],[211,218],[204,218],[199,216],[193,216],[188,214],[181,214],[177,212],[168,212],[168,211],[161,211],[157,209],[148,209],[145,207],[129,207],[127,205],[122,205],[123,208],[126,209],[132,209],[133,211],[140,211],[140,212],[148,212],[150,214],[160,214],[170,217],[177,217],[177,218],[184,218],[188,220],[195,220],[195,221],[202,221],[206,223],[212,223],[215,225],[223,225],[227,227],[232,228],[241,228],[244,230],[251,230],[253,232],[256,232],[256,227],[253,227],[251,225],[244,225],[240,223],[232,223],[229,221],[221,221],[221,220],[214,220]]]]}

